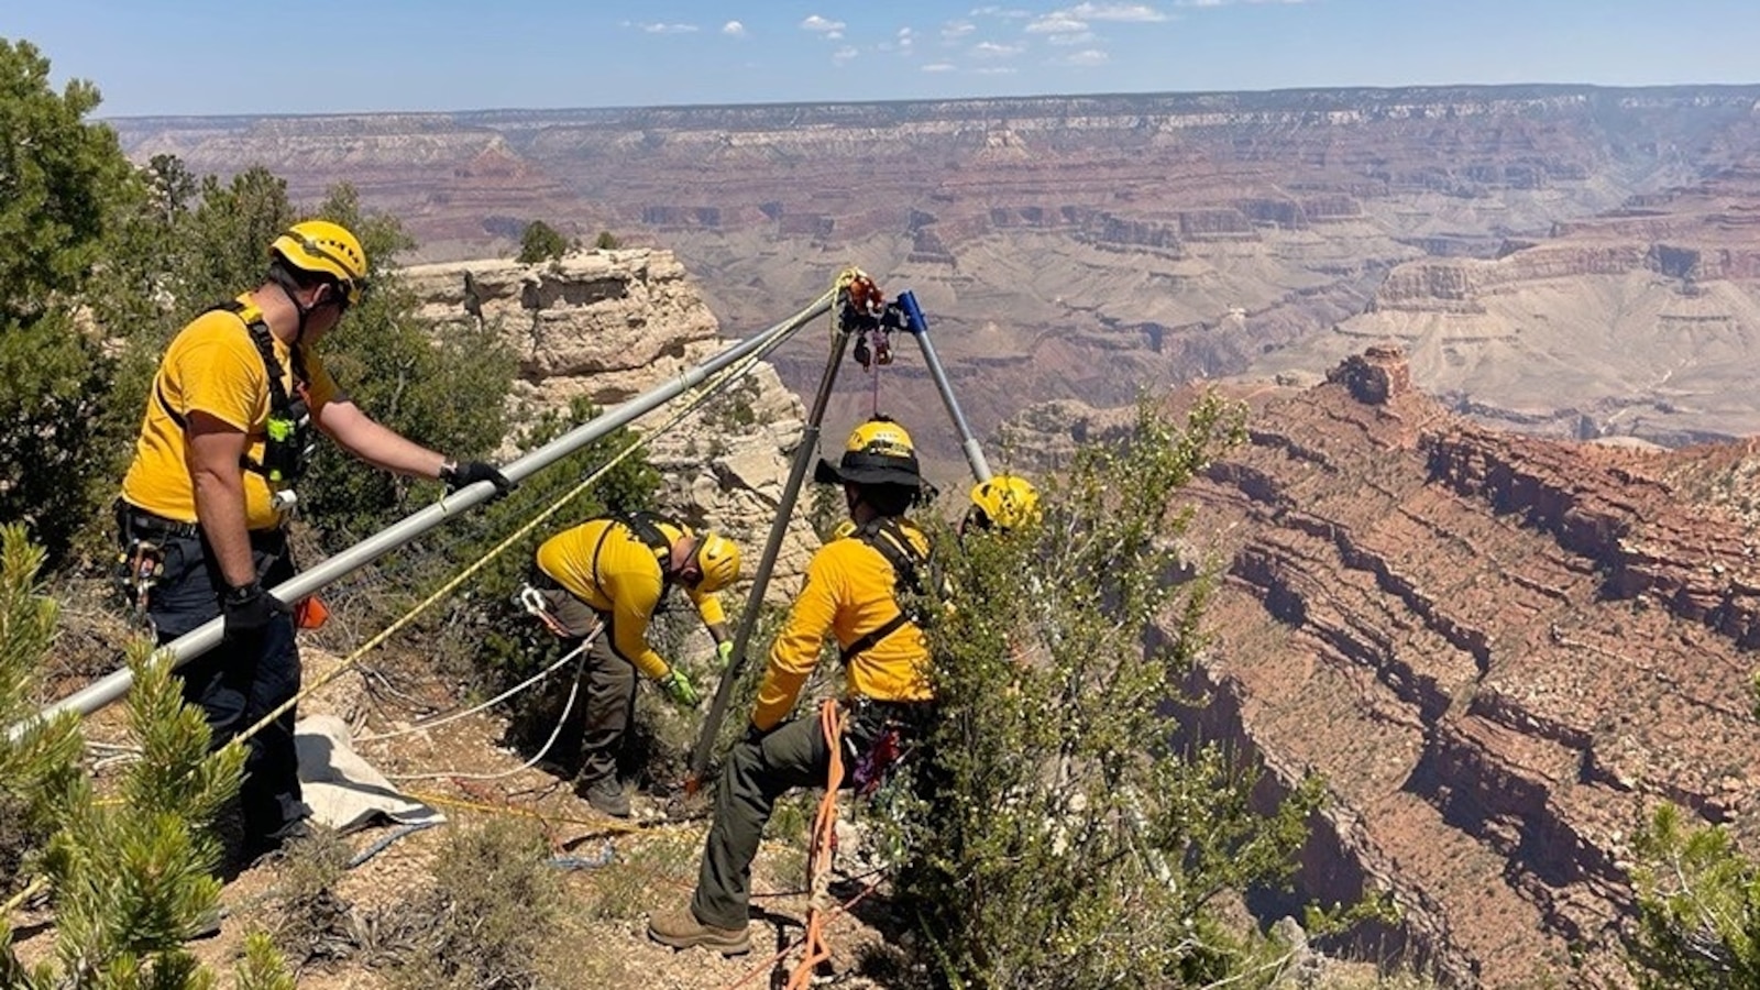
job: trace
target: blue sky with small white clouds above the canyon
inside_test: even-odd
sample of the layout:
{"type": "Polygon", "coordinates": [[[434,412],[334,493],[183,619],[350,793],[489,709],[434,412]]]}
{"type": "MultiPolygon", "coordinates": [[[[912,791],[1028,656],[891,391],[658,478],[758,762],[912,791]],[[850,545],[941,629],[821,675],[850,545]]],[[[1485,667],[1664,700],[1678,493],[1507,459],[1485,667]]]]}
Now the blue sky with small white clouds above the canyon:
{"type": "Polygon", "coordinates": [[[1755,83],[1760,0],[7,0],[99,116],[1755,83]]]}

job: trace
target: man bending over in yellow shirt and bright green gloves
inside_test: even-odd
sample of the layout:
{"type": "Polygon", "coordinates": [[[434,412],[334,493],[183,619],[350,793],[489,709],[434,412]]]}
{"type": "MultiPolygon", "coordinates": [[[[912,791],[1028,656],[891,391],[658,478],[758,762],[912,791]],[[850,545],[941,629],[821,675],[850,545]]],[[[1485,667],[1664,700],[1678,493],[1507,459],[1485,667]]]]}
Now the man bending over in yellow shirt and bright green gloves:
{"type": "Polygon", "coordinates": [[[635,673],[653,678],[685,708],[699,701],[690,676],[648,645],[648,624],[672,587],[683,587],[715,639],[722,666],[732,654],[727,615],[715,592],[739,578],[739,548],[723,536],[637,513],[590,520],[560,532],[537,553],[551,618],[570,639],[604,624],[588,646],[586,710],[576,791],[595,809],[630,816],[618,782],[618,750],[635,708],[635,673]]]}

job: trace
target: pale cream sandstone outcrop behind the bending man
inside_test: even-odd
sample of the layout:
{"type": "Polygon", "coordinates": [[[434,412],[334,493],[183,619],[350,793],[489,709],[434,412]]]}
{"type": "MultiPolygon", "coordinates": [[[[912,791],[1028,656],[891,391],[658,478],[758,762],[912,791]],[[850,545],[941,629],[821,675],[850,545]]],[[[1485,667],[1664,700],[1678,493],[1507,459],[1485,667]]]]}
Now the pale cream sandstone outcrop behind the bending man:
{"type": "MultiPolygon", "coordinates": [[[[560,261],[465,261],[401,271],[431,324],[495,328],[519,356],[509,402],[517,419],[567,412],[576,398],[607,409],[695,368],[729,345],[683,266],[664,250],[576,252],[560,261]]],[[[781,500],[788,462],[801,444],[806,410],[767,363],[723,398],[665,425],[688,396],[634,423],[660,470],[662,504],[686,521],[725,532],[744,551],[746,580],[757,567],[781,500]]],[[[514,451],[505,451],[514,453],[514,451]]],[[[556,523],[568,525],[565,521],[556,523]]],[[[818,537],[803,513],[792,516],[766,599],[799,590],[818,537]]]]}

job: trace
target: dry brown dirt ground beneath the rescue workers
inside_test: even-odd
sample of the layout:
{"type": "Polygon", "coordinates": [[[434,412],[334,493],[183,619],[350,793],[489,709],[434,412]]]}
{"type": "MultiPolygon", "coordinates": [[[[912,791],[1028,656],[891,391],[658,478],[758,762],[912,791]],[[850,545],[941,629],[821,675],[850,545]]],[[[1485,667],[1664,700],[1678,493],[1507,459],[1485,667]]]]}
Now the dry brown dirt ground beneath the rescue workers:
{"type": "MultiPolygon", "coordinates": [[[[114,641],[114,639],[113,639],[114,641]]],[[[306,646],[306,683],[336,671],[341,661],[306,646]]],[[[387,661],[368,657],[368,668],[387,661]]],[[[396,664],[361,673],[340,673],[301,703],[301,717],[331,713],[341,717],[356,736],[371,736],[410,728],[435,713],[463,708],[438,676],[412,678],[421,668],[396,664]],[[396,692],[387,691],[396,683],[396,692]]],[[[55,685],[60,694],[77,687],[55,685]]],[[[121,706],[113,706],[88,720],[88,738],[123,740],[121,706]]],[[[447,823],[396,839],[384,851],[348,870],[334,886],[347,918],[347,935],[329,942],[327,955],[341,958],[310,960],[299,965],[299,986],[315,990],[356,990],[407,986],[387,955],[375,951],[382,934],[377,921],[385,911],[421,897],[433,883],[438,851],[459,831],[486,823],[535,823],[554,853],[556,874],[563,888],[561,918],[554,944],[533,960],[542,986],[655,986],[655,988],[732,988],[781,986],[787,972],[801,958],[801,934],[806,918],[804,830],[778,840],[776,823],[771,840],[753,867],[753,951],[723,958],[704,949],[674,951],[649,942],[649,911],[685,904],[695,881],[695,868],[708,830],[708,789],[695,798],[634,796],[635,814],[618,821],[598,814],[574,794],[568,780],[537,768],[521,768],[530,754],[505,743],[507,722],[493,713],[468,715],[435,731],[417,731],[378,742],[361,742],[357,750],[407,794],[438,807],[447,823]],[[493,777],[493,779],[472,779],[493,777]],[[609,854],[609,861],[604,861],[609,854]],[[338,946],[340,942],[340,946],[338,946]],[[352,942],[352,944],[350,944],[352,942]],[[551,951],[554,949],[554,951],[551,951]]],[[[95,750],[109,752],[109,750],[95,750]]],[[[99,766],[99,777],[109,773],[99,766]]],[[[804,807],[804,805],[803,805],[804,807]]],[[[780,816],[781,817],[781,816],[780,816]]],[[[787,828],[787,826],[785,826],[787,828]]],[[[340,837],[356,856],[385,842],[398,826],[375,826],[340,837]]],[[[845,835],[854,837],[845,830],[845,835]]],[[[885,923],[884,881],[869,863],[845,861],[832,872],[832,897],[840,902],[859,898],[852,911],[836,911],[827,927],[832,960],[822,972],[836,974],[843,986],[882,986],[862,976],[871,958],[891,955],[887,935],[875,923],[885,923]]],[[[285,928],[289,904],[282,893],[299,868],[301,853],[285,853],[257,861],[227,884],[222,904],[225,918],[215,937],[190,942],[190,949],[220,976],[220,986],[232,985],[232,971],[243,958],[246,934],[285,928]]],[[[40,905],[39,905],[40,907],[40,905]]],[[[55,948],[53,916],[44,909],[14,916],[18,948],[25,962],[48,958],[55,948]]],[[[320,953],[326,955],[326,953],[320,953]]],[[[299,960],[290,958],[290,964],[299,960]]],[[[459,983],[465,985],[465,983],[459,983]]]]}

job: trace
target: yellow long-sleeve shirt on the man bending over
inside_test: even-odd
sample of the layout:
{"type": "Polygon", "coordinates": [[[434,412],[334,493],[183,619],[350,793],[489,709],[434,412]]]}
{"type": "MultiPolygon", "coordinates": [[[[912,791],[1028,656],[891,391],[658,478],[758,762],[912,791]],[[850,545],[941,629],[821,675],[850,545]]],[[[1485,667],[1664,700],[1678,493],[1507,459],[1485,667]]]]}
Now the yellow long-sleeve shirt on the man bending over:
{"type": "MultiPolygon", "coordinates": [[[[667,536],[674,536],[667,532],[667,536]]],[[[665,578],[651,546],[616,520],[591,520],[539,546],[539,569],[568,594],[611,613],[611,648],[651,678],[671,666],[648,645],[648,622],[665,594],[665,578]]],[[[722,599],[685,588],[704,625],[727,622],[722,599]]]]}

